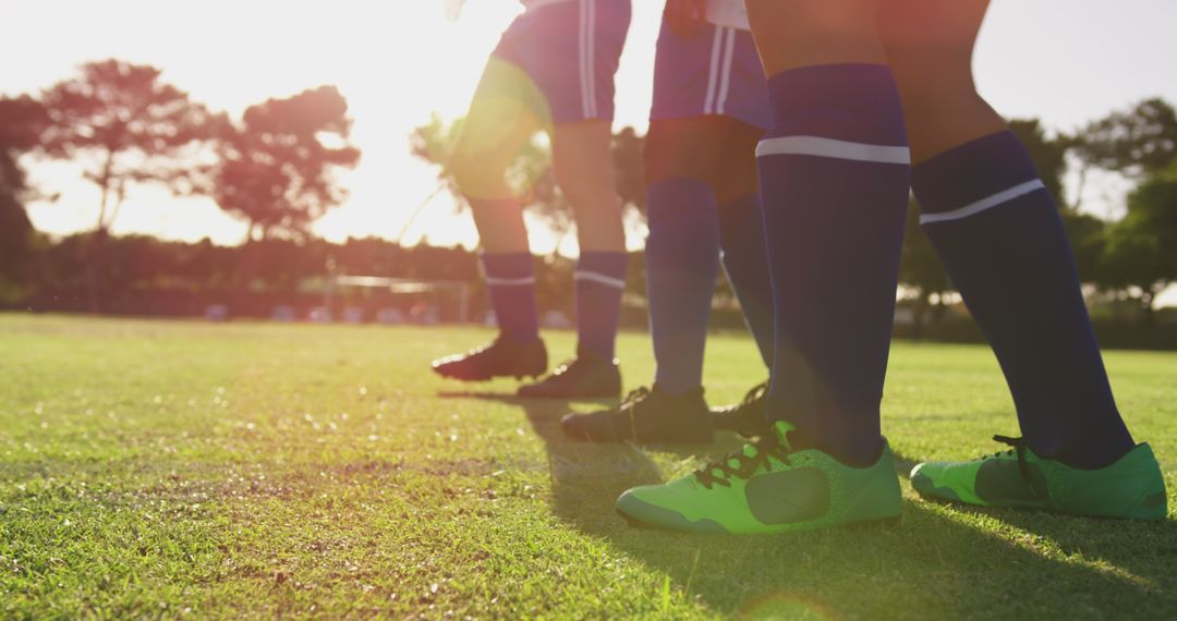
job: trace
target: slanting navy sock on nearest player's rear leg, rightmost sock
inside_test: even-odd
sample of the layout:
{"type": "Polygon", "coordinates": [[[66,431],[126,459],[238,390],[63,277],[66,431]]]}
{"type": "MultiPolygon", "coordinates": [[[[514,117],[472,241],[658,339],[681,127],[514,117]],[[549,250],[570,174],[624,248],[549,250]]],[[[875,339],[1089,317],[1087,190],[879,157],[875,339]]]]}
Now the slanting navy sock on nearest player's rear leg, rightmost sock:
{"type": "Polygon", "coordinates": [[[1131,450],[1062,218],[1025,147],[1009,132],[982,138],[918,166],[912,181],[1035,453],[1102,467],[1131,450]]]}

